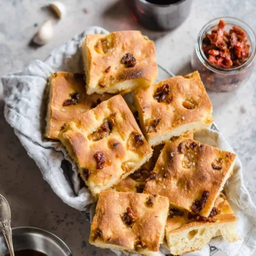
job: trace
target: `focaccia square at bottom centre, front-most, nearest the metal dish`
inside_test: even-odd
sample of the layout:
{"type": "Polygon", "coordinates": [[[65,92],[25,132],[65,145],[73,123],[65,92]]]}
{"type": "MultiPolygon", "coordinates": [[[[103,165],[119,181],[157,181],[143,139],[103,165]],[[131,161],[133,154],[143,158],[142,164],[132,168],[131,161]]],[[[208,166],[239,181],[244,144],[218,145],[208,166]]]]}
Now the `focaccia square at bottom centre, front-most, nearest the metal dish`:
{"type": "Polygon", "coordinates": [[[103,191],[99,195],[89,242],[143,255],[157,255],[163,243],[168,198],[103,191]]]}

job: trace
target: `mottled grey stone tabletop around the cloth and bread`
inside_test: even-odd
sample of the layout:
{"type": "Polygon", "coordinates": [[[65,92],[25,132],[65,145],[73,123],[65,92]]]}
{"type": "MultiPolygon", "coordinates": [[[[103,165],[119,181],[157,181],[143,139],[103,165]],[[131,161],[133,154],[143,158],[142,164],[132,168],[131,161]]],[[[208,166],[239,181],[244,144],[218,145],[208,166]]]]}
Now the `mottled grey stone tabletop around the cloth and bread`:
{"type": "MultiPolygon", "coordinates": [[[[0,0],[0,76],[24,68],[88,26],[109,31],[139,29],[156,42],[157,60],[175,74],[191,71],[190,60],[196,35],[209,20],[221,16],[243,19],[256,31],[255,0],[194,0],[188,19],[172,32],[156,33],[137,24],[124,0],[63,0],[67,17],[56,20],[44,8],[44,0],[0,0]],[[223,4],[225,5],[223,6],[223,4]],[[38,27],[48,19],[54,36],[42,47],[29,45],[38,27]]],[[[256,71],[256,70],[255,70],[256,71]]],[[[244,182],[256,202],[256,72],[236,92],[209,92],[214,118],[244,166],[244,182]]],[[[13,227],[33,226],[49,230],[63,239],[75,255],[114,255],[88,243],[90,224],[63,204],[42,179],[36,164],[20,145],[3,116],[3,88],[0,84],[0,193],[12,208],[13,227]]],[[[219,252],[216,255],[224,255],[219,252]]],[[[256,255],[256,254],[255,254],[256,255]]],[[[246,255],[250,256],[250,255],[246,255]]]]}

